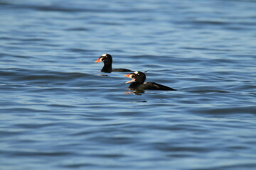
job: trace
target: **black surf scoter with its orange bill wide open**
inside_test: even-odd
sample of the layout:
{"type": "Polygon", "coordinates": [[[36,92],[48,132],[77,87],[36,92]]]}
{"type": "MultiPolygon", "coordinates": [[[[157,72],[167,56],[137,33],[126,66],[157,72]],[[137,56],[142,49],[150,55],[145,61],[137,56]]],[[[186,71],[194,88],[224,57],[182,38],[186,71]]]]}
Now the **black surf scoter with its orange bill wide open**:
{"type": "Polygon", "coordinates": [[[143,72],[134,72],[131,74],[126,74],[124,76],[132,79],[131,81],[126,82],[126,84],[132,82],[132,84],[129,85],[129,89],[132,90],[136,90],[139,92],[144,92],[144,90],[176,91],[176,89],[172,89],[169,86],[164,86],[154,82],[144,82],[146,80],[146,74],[144,74],[143,72]]]}

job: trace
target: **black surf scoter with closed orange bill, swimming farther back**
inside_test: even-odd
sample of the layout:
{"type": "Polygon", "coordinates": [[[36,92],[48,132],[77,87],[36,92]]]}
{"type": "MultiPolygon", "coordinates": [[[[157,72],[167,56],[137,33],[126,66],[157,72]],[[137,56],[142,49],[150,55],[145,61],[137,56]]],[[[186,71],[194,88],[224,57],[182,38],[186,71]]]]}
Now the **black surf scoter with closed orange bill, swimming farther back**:
{"type": "Polygon", "coordinates": [[[95,62],[104,62],[101,72],[133,72],[129,69],[112,69],[112,56],[109,54],[103,54],[95,62]]]}

